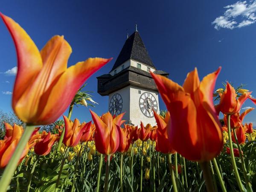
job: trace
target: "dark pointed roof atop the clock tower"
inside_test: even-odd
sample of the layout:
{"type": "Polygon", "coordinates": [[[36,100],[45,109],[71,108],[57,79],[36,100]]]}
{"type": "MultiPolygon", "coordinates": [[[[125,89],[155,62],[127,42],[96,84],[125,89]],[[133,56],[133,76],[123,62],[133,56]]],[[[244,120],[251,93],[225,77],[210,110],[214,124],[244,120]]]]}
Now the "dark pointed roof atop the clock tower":
{"type": "Polygon", "coordinates": [[[122,65],[128,59],[133,59],[135,61],[139,61],[143,64],[148,65],[149,67],[153,67],[156,69],[153,62],[151,61],[150,56],[148,55],[148,51],[147,51],[145,45],[143,44],[143,41],[142,41],[138,31],[135,31],[125,41],[125,44],[124,44],[121,52],[119,53],[112,70],[114,70],[116,67],[122,65]]]}

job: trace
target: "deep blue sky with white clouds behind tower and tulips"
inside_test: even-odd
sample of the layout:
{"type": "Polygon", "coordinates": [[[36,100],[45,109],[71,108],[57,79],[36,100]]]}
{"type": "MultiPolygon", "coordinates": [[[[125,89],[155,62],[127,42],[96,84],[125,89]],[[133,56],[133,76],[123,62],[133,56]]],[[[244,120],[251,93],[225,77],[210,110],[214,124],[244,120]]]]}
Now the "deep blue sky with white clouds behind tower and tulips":
{"type": "MultiPolygon", "coordinates": [[[[200,78],[222,66],[216,88],[231,81],[253,91],[256,96],[256,1],[9,1],[0,11],[12,17],[41,49],[53,35],[64,35],[73,48],[68,65],[88,57],[113,57],[90,77],[86,90],[95,91],[93,108],[98,114],[108,110],[108,97],[97,93],[96,76],[108,73],[135,23],[159,70],[183,84],[186,74],[198,68],[200,78]]],[[[0,109],[12,111],[11,92],[15,80],[11,70],[17,65],[11,36],[0,21],[0,109]],[[6,73],[7,72],[7,73],[6,73]]],[[[61,101],[61,98],[58,102],[61,101]]],[[[254,107],[250,101],[243,108],[254,107]]],[[[165,105],[160,101],[160,109],[165,105]]],[[[67,114],[67,112],[65,113],[67,114]]],[[[88,108],[74,108],[73,116],[91,119],[88,108]]],[[[256,123],[256,110],[245,117],[256,123]]]]}

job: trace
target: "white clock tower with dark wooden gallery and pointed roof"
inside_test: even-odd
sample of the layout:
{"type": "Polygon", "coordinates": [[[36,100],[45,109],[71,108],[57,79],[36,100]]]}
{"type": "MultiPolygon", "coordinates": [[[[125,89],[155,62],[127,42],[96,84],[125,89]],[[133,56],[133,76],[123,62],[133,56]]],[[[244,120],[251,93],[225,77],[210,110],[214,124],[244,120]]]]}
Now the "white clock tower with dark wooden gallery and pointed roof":
{"type": "Polygon", "coordinates": [[[168,77],[169,73],[157,70],[136,30],[125,41],[112,70],[97,77],[98,93],[108,96],[108,110],[112,115],[125,112],[126,123],[156,125],[153,110],[159,113],[158,91],[152,71],[168,77]]]}

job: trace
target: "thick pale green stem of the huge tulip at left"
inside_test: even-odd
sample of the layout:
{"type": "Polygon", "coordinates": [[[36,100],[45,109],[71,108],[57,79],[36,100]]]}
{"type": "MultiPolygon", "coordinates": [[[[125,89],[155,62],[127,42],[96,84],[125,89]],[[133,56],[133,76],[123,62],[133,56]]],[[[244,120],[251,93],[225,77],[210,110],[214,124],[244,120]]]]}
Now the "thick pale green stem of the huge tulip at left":
{"type": "Polygon", "coordinates": [[[7,186],[9,186],[9,183],[12,180],[12,175],[15,172],[15,169],[17,167],[17,164],[19,163],[20,156],[26,147],[26,144],[28,143],[29,138],[31,137],[31,134],[34,131],[35,126],[33,125],[26,125],[26,128],[24,129],[24,132],[20,138],[20,141],[11,157],[9,160],[8,165],[4,169],[3,175],[0,180],[0,192],[5,192],[7,189],[7,186]]]}

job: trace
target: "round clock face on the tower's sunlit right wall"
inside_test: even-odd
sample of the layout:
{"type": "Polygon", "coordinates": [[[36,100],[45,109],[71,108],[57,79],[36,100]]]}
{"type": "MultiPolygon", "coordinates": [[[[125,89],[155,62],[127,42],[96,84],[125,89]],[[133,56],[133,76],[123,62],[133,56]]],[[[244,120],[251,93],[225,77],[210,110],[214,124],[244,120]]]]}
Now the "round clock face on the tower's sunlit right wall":
{"type": "Polygon", "coordinates": [[[154,96],[149,92],[144,92],[140,96],[139,100],[140,111],[147,117],[154,117],[154,112],[157,112],[157,100],[154,96]]]}

